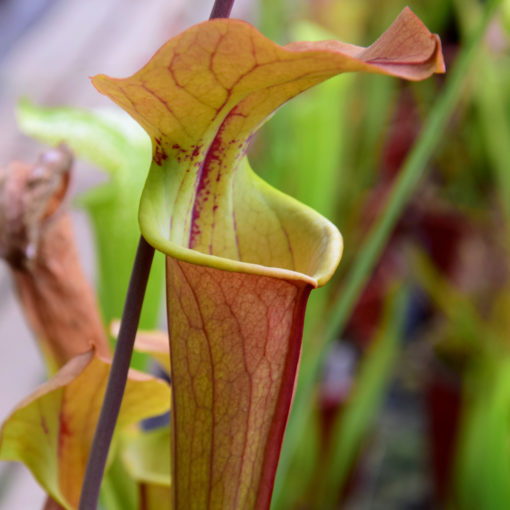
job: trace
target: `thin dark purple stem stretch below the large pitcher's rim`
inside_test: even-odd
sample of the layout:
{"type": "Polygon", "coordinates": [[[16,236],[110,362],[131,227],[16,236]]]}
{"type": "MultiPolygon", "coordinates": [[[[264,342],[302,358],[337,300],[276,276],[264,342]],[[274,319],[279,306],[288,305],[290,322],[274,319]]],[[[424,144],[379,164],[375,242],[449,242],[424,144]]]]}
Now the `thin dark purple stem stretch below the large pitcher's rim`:
{"type": "Polygon", "coordinates": [[[112,368],[83,480],[80,510],[96,510],[97,508],[101,480],[126,387],[129,364],[153,257],[154,248],[143,237],[140,237],[122,313],[112,368]]]}

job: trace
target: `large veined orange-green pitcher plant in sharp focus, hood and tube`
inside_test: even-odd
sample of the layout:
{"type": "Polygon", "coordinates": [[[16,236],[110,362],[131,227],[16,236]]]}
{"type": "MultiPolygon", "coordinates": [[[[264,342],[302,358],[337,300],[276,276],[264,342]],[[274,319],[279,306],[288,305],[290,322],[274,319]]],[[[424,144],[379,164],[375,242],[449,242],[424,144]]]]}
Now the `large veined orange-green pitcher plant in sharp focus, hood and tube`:
{"type": "Polygon", "coordinates": [[[167,255],[175,510],[269,506],[308,295],[341,256],[333,224],[251,170],[251,137],[337,74],[419,80],[443,69],[438,37],[405,9],[368,48],[282,47],[212,20],[130,78],[93,78],[152,140],[139,219],[167,255]]]}

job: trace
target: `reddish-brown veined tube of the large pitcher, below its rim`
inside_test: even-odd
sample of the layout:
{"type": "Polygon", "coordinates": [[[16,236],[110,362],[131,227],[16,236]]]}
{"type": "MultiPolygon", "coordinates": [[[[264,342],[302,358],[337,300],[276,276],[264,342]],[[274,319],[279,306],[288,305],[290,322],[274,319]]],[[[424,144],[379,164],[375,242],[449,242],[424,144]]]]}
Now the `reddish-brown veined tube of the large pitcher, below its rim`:
{"type": "Polygon", "coordinates": [[[176,509],[266,509],[311,286],[167,259],[176,509]]]}

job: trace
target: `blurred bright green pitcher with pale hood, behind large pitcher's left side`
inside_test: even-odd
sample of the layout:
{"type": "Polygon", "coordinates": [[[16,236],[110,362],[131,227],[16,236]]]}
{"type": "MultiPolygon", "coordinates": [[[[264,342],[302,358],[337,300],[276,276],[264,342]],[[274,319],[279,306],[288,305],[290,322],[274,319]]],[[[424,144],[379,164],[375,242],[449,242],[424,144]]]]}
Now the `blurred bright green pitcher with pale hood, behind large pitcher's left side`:
{"type": "MultiPolygon", "coordinates": [[[[64,141],[76,156],[107,175],[76,200],[90,218],[97,253],[97,291],[105,325],[120,319],[140,237],[138,203],[151,160],[150,141],[143,129],[123,112],[39,107],[20,101],[18,125],[48,144],[64,141]]],[[[158,325],[163,297],[162,254],[156,254],[140,318],[140,328],[158,325]]],[[[134,366],[144,356],[135,353],[134,366]]]]}

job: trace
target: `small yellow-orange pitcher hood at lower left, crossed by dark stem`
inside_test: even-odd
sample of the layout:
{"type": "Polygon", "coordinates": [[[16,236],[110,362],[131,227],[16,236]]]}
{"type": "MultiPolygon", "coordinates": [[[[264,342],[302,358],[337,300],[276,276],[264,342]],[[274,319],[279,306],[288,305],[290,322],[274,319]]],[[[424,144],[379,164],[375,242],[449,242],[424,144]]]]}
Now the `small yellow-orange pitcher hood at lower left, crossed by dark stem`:
{"type": "MultiPolygon", "coordinates": [[[[16,408],[0,433],[0,459],[23,462],[67,510],[78,508],[109,370],[93,351],[76,356],[16,408]]],[[[168,411],[169,403],[166,383],[132,371],[118,427],[168,411]]]]}

